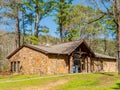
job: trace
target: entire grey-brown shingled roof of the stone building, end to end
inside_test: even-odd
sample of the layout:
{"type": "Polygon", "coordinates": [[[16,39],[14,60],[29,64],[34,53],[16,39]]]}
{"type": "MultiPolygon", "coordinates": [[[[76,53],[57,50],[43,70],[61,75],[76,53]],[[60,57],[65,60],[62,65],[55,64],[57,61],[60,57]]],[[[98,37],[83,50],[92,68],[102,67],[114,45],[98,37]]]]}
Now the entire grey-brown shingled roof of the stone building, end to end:
{"type": "Polygon", "coordinates": [[[16,49],[12,53],[10,53],[7,56],[7,58],[9,59],[11,56],[13,56],[16,52],[18,52],[23,47],[28,47],[28,48],[31,48],[31,49],[34,49],[36,51],[40,51],[40,52],[43,52],[46,54],[67,54],[67,55],[70,55],[82,43],[84,43],[84,45],[87,47],[88,51],[90,53],[92,53],[92,55],[96,58],[115,59],[115,57],[94,53],[88,47],[87,43],[83,39],[71,41],[71,42],[67,42],[67,43],[62,43],[62,44],[57,44],[57,45],[53,45],[53,46],[37,46],[37,45],[26,44],[26,45],[22,45],[20,48],[16,49]]]}

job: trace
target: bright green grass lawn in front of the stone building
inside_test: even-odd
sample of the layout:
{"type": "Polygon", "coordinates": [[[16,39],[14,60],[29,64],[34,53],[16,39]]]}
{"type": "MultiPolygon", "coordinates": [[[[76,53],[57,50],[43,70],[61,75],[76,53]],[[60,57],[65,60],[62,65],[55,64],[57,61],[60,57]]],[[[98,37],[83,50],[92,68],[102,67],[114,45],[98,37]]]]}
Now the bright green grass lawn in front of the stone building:
{"type": "Polygon", "coordinates": [[[117,73],[0,76],[0,90],[120,90],[120,77],[117,73]]]}

